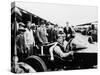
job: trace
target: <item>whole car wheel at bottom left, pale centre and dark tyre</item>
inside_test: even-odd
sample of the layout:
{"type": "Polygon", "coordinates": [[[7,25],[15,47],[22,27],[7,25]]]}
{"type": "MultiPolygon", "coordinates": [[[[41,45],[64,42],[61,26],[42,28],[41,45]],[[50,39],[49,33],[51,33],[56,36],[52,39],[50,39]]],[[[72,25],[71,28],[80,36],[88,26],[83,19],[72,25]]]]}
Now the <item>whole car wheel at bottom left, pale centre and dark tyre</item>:
{"type": "Polygon", "coordinates": [[[33,73],[47,71],[46,64],[39,56],[29,56],[25,61],[13,64],[13,73],[33,73]]]}

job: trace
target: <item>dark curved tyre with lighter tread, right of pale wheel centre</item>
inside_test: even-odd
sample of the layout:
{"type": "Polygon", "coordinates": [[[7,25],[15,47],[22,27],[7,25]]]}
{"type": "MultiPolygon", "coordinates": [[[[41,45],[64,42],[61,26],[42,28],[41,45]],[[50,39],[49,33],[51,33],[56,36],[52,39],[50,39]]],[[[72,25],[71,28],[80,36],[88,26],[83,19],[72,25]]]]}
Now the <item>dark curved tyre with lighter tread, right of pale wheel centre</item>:
{"type": "Polygon", "coordinates": [[[36,72],[47,71],[45,62],[39,56],[32,55],[28,57],[24,62],[34,68],[36,72]]]}

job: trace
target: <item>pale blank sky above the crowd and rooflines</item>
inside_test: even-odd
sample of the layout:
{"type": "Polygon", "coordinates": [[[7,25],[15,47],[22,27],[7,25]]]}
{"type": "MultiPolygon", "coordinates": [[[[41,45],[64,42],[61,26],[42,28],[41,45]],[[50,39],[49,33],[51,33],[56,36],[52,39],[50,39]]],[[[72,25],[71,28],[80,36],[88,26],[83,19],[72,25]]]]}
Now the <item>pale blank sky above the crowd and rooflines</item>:
{"type": "Polygon", "coordinates": [[[78,25],[98,19],[98,8],[95,6],[36,2],[16,2],[16,6],[61,26],[65,26],[67,21],[70,25],[78,25]]]}

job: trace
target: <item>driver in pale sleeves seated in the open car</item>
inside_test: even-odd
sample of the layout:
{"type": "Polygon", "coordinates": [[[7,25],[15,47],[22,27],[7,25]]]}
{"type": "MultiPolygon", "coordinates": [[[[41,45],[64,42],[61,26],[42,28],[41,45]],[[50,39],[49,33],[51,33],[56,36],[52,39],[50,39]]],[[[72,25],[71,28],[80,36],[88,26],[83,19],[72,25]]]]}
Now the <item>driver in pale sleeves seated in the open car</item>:
{"type": "Polygon", "coordinates": [[[65,37],[66,37],[65,33],[62,31],[59,31],[57,42],[55,42],[54,45],[51,46],[49,49],[50,56],[51,56],[50,60],[54,60],[54,52],[61,58],[67,57],[73,54],[73,51],[66,50],[66,46],[68,42],[65,40],[65,37]]]}

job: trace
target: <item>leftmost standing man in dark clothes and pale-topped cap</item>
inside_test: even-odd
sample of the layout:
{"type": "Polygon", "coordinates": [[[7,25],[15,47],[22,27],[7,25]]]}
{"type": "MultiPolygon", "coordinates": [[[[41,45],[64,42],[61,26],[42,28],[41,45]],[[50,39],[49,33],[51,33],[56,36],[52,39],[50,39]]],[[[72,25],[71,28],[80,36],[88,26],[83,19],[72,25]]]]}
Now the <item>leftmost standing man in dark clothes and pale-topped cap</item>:
{"type": "Polygon", "coordinates": [[[25,28],[23,26],[20,26],[18,29],[19,34],[16,38],[16,45],[17,45],[17,54],[19,57],[19,60],[23,61],[24,55],[25,55],[25,39],[24,39],[24,32],[25,28]]]}

